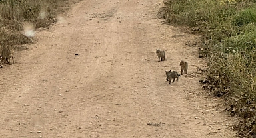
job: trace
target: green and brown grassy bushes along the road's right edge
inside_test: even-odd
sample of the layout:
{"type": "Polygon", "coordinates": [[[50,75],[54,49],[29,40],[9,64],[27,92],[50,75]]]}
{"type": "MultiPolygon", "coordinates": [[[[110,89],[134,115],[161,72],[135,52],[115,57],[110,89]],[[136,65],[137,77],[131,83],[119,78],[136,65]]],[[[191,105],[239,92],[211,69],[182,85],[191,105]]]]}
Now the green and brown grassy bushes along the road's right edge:
{"type": "Polygon", "coordinates": [[[256,1],[165,0],[165,23],[201,35],[207,58],[205,89],[223,97],[227,111],[242,118],[241,137],[256,136],[256,1]]]}

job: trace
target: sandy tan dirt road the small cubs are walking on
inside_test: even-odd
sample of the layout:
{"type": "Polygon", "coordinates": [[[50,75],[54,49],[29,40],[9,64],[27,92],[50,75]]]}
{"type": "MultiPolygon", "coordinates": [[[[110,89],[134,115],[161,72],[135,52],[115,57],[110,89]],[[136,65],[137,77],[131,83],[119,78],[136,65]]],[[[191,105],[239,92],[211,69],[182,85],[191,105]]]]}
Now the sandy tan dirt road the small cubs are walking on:
{"type": "Polygon", "coordinates": [[[185,46],[197,36],[162,24],[160,7],[83,0],[37,31],[1,69],[0,137],[235,137],[235,120],[198,82],[205,62],[185,46]],[[165,70],[180,74],[180,60],[188,74],[169,85],[165,70]]]}

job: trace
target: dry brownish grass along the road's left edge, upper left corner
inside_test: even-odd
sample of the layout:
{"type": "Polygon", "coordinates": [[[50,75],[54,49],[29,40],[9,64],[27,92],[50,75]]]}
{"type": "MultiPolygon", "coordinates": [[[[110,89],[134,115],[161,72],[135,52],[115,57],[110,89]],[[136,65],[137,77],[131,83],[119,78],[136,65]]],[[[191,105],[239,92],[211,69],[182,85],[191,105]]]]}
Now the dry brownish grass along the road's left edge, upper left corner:
{"type": "Polygon", "coordinates": [[[3,46],[33,42],[33,31],[56,23],[57,15],[65,13],[69,4],[69,0],[0,0],[0,51],[3,46]]]}

